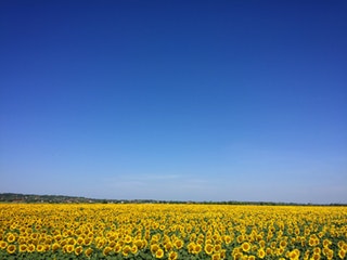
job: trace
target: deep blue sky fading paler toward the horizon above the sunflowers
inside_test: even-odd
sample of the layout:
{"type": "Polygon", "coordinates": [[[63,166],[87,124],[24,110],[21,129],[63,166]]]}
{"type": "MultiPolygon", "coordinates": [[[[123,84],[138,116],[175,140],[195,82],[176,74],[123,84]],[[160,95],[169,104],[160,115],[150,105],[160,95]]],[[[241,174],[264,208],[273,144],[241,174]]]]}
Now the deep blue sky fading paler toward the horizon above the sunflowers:
{"type": "Polygon", "coordinates": [[[0,192],[347,203],[346,1],[0,1],[0,192]]]}

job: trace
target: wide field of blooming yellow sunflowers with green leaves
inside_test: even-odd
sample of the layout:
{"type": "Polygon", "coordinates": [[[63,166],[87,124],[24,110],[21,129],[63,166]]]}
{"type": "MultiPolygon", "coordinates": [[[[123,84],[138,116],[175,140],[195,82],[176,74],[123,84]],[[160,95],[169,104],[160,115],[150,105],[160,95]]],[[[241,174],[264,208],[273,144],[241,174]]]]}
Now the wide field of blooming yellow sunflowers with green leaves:
{"type": "Polygon", "coordinates": [[[0,259],[346,259],[347,208],[0,204],[0,259]]]}

